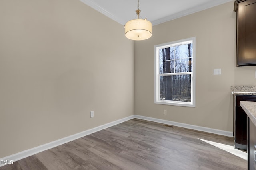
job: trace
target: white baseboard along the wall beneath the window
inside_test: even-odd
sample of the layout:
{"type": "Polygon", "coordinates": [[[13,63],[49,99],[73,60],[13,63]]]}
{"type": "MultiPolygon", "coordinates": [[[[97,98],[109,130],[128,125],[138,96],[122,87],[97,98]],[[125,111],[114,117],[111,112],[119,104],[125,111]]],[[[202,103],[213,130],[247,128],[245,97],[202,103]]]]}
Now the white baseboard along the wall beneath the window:
{"type": "Polygon", "coordinates": [[[168,120],[163,120],[163,119],[156,119],[156,118],[140,116],[140,115],[134,115],[134,118],[147,120],[147,121],[154,121],[154,122],[163,123],[163,124],[166,124],[166,125],[184,127],[184,128],[188,128],[188,129],[197,130],[197,131],[214,133],[214,134],[217,134],[217,135],[233,137],[233,132],[231,132],[231,131],[222,131],[222,130],[212,129],[212,128],[208,128],[208,127],[189,125],[189,124],[185,124],[185,123],[179,123],[179,122],[168,121],[168,120]]]}

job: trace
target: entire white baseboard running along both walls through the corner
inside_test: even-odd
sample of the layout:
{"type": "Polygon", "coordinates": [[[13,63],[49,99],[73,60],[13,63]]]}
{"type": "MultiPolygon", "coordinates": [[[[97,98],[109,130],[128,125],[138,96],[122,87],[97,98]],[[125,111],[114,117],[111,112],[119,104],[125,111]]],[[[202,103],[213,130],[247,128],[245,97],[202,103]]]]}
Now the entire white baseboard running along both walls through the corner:
{"type": "Polygon", "coordinates": [[[134,119],[134,118],[147,120],[147,121],[158,122],[158,123],[163,123],[163,124],[166,124],[166,125],[173,125],[173,126],[184,127],[184,128],[188,128],[188,129],[194,129],[194,130],[208,132],[208,133],[214,133],[214,134],[218,134],[218,135],[224,135],[224,136],[228,136],[228,137],[233,137],[233,132],[230,132],[230,131],[222,131],[222,130],[218,130],[218,129],[211,129],[211,128],[208,128],[208,127],[189,125],[189,124],[185,124],[185,123],[178,123],[178,122],[174,122],[174,121],[156,119],[156,118],[140,116],[140,115],[131,115],[129,117],[125,117],[125,118],[119,119],[117,121],[106,123],[104,125],[101,125],[101,126],[98,126],[98,127],[92,128],[92,129],[88,129],[86,131],[76,133],[74,135],[70,135],[68,137],[64,137],[62,139],[58,139],[56,141],[52,141],[52,142],[46,143],[44,145],[40,145],[38,147],[34,147],[34,148],[31,148],[31,149],[28,149],[28,150],[24,150],[22,152],[18,152],[16,154],[12,154],[10,156],[6,156],[4,158],[0,158],[0,160],[4,160],[4,161],[0,161],[0,167],[6,165],[2,162],[7,162],[7,161],[8,162],[15,162],[15,161],[21,160],[23,158],[26,158],[28,156],[31,156],[31,155],[37,154],[39,152],[42,152],[44,150],[48,150],[48,149],[51,149],[53,147],[57,147],[57,146],[62,145],[64,143],[73,141],[75,139],[78,139],[80,137],[84,137],[86,135],[90,135],[91,133],[95,133],[97,131],[106,129],[108,127],[117,125],[119,123],[122,123],[124,121],[128,121],[130,119],[134,119]]]}

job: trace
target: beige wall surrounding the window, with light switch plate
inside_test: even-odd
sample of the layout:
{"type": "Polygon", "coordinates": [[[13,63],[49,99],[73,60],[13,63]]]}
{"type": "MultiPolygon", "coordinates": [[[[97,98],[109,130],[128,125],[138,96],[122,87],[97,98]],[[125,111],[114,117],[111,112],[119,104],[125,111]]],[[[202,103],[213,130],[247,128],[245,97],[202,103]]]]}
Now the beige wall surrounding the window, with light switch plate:
{"type": "Polygon", "coordinates": [[[135,42],[135,114],[233,131],[232,85],[256,85],[255,66],[236,68],[234,2],[153,27],[135,42]],[[154,104],[154,45],[196,37],[196,107],[154,104]],[[213,69],[222,75],[214,76],[213,69]],[[164,109],[167,115],[163,115],[164,109]]]}

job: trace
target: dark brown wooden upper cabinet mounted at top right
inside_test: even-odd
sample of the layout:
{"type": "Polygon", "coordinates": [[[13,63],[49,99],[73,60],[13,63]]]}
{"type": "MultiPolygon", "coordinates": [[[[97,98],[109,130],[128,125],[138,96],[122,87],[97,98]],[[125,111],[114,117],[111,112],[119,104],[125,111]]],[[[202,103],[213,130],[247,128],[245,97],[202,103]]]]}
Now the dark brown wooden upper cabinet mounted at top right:
{"type": "Polygon", "coordinates": [[[256,65],[256,0],[236,0],[236,66],[256,65]]]}

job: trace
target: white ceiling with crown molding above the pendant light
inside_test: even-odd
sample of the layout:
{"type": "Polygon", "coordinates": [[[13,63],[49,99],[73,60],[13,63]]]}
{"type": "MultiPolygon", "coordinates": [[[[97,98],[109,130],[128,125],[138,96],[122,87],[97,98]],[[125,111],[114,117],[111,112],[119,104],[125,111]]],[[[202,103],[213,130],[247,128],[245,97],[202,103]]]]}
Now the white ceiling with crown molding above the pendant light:
{"type": "MultiPolygon", "coordinates": [[[[136,19],[138,0],[80,1],[122,25],[136,19]]],[[[140,0],[140,16],[157,25],[230,1],[233,0],[140,0]]]]}

